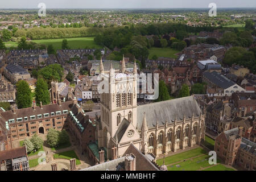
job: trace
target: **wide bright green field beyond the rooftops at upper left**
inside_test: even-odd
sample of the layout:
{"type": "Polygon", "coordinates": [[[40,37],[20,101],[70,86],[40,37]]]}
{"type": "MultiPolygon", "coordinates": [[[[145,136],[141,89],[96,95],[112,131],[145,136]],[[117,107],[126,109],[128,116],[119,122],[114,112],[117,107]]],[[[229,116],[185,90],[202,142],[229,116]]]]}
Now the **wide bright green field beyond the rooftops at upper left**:
{"type": "MultiPolygon", "coordinates": [[[[47,46],[49,44],[52,44],[52,46],[57,49],[61,49],[61,43],[63,39],[43,39],[43,40],[31,40],[32,42],[35,42],[37,44],[46,44],[47,46]]],[[[78,49],[82,48],[84,49],[85,47],[89,48],[102,48],[101,46],[98,46],[94,42],[94,37],[87,37],[87,38],[67,38],[68,40],[68,46],[71,49],[78,49]]],[[[16,42],[5,42],[6,47],[16,47],[18,46],[18,43],[16,42]]]]}

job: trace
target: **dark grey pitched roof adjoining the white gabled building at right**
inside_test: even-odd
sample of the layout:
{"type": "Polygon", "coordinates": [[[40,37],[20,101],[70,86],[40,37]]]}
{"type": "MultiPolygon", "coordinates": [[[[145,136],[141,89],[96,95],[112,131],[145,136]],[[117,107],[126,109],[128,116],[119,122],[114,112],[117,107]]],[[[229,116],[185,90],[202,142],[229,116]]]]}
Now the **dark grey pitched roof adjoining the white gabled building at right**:
{"type": "Polygon", "coordinates": [[[225,77],[224,75],[221,75],[221,73],[217,73],[216,71],[213,72],[204,72],[204,77],[208,78],[211,82],[213,82],[214,85],[217,85],[220,88],[226,89],[230,86],[234,85],[235,83],[229,78],[225,77]]]}

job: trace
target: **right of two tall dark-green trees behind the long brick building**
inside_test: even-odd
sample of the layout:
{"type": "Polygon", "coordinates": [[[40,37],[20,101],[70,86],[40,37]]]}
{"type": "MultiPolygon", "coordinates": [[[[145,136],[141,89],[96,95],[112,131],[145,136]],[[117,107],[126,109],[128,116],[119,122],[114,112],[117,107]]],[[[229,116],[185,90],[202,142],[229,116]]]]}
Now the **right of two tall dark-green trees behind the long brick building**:
{"type": "Polygon", "coordinates": [[[48,85],[43,78],[38,78],[38,81],[36,81],[35,100],[36,105],[40,105],[40,102],[42,102],[43,105],[50,104],[48,85]]]}

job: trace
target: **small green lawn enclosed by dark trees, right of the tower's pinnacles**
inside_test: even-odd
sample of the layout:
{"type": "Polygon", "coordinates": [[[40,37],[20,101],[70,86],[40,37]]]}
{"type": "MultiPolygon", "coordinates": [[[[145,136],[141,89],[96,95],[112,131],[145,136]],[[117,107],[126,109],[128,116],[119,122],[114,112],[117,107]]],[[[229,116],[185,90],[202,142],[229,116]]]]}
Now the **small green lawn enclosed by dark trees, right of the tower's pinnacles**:
{"type": "Polygon", "coordinates": [[[159,47],[151,47],[149,49],[150,55],[148,56],[149,59],[152,59],[152,56],[156,55],[158,57],[171,57],[171,58],[176,58],[177,56],[175,55],[180,51],[177,51],[175,49],[166,47],[166,48],[159,48],[159,47]]]}

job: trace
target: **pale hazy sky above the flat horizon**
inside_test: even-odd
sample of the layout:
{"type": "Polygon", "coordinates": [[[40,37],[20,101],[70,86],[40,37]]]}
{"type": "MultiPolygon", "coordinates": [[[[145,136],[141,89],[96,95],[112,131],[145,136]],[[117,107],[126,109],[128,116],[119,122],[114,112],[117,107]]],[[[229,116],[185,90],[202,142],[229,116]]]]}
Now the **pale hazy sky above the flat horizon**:
{"type": "Polygon", "coordinates": [[[46,8],[68,9],[148,9],[148,8],[206,8],[209,3],[218,7],[256,7],[255,0],[0,0],[0,9],[37,9],[39,3],[46,8]]]}

